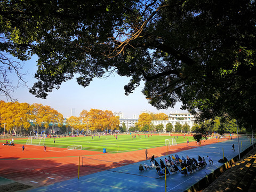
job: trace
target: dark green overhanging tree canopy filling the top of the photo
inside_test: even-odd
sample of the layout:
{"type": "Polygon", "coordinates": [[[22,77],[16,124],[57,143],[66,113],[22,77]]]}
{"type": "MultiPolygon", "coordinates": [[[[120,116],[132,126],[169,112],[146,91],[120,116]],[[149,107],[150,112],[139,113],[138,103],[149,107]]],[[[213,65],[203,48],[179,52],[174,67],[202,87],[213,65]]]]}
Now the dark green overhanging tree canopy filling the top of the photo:
{"type": "MultiPolygon", "coordinates": [[[[202,119],[256,116],[255,1],[14,1],[1,2],[1,52],[21,60],[36,54],[38,82],[30,92],[46,98],[79,74],[130,77],[131,93],[157,108],[199,111],[202,119]]],[[[1,90],[2,91],[2,90],[1,90]]]]}

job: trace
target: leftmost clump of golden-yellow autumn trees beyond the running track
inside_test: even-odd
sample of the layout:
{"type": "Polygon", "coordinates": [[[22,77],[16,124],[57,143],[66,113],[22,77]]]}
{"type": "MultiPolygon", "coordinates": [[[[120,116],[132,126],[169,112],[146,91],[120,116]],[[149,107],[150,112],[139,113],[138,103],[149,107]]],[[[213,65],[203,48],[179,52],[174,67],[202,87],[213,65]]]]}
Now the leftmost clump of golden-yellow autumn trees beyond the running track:
{"type": "Polygon", "coordinates": [[[54,125],[63,124],[63,115],[50,106],[34,103],[4,102],[0,101],[0,123],[6,131],[13,131],[14,134],[21,134],[21,129],[28,130],[31,123],[38,128],[43,126],[44,131],[51,126],[52,133],[54,125]]]}

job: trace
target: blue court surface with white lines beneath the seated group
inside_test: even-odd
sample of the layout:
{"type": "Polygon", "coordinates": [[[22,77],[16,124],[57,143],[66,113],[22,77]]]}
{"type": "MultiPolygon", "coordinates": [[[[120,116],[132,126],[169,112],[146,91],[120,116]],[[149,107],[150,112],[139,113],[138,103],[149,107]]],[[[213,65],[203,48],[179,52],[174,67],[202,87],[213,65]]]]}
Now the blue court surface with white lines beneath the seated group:
{"type": "MultiPolygon", "coordinates": [[[[249,138],[239,138],[240,151],[242,149],[251,146],[251,140],[249,138]]],[[[237,139],[227,140],[212,145],[203,147],[197,147],[194,149],[180,151],[177,153],[179,157],[185,157],[188,155],[190,158],[198,158],[198,155],[204,157],[207,165],[196,172],[188,174],[187,177],[180,172],[168,175],[166,177],[166,191],[184,191],[188,187],[194,185],[194,183],[201,180],[205,175],[213,172],[223,163],[218,163],[220,158],[223,158],[223,152],[225,157],[230,160],[238,155],[238,142],[237,139]],[[235,151],[231,150],[231,146],[235,144],[235,151]],[[213,159],[213,164],[209,164],[208,158],[210,156],[213,159]]],[[[175,154],[168,154],[175,155],[175,154]]],[[[159,159],[164,160],[166,156],[155,158],[159,163],[159,159]]],[[[107,160],[107,159],[106,159],[107,160]]],[[[159,178],[155,168],[147,171],[139,171],[139,164],[147,163],[150,165],[149,160],[135,164],[129,164],[109,171],[101,171],[98,173],[86,175],[79,179],[71,179],[59,183],[55,183],[46,187],[39,187],[36,189],[26,191],[165,191],[165,177],[159,178]]],[[[179,167],[179,166],[178,166],[179,167]]],[[[82,169],[86,169],[82,167],[82,169]]],[[[179,167],[180,169],[180,167],[179,167]]]]}

